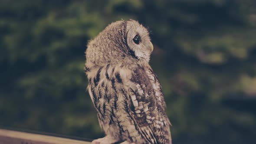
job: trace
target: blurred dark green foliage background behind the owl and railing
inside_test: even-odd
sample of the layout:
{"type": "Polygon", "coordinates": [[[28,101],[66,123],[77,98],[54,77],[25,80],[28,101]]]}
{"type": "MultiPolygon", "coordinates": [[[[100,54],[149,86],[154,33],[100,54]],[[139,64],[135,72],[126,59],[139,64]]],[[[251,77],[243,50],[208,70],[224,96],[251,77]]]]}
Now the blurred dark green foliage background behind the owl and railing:
{"type": "Polygon", "coordinates": [[[255,144],[255,0],[0,0],[0,126],[102,137],[84,51],[121,19],[151,31],[174,144],[255,144]]]}

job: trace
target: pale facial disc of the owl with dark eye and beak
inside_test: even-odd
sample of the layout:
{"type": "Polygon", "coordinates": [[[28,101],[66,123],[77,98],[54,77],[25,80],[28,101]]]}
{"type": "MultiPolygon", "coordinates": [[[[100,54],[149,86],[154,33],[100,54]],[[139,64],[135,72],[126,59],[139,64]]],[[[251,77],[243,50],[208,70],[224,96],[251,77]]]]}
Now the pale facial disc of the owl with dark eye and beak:
{"type": "Polygon", "coordinates": [[[148,29],[135,20],[127,21],[127,43],[138,59],[149,61],[153,45],[150,41],[148,29]]]}

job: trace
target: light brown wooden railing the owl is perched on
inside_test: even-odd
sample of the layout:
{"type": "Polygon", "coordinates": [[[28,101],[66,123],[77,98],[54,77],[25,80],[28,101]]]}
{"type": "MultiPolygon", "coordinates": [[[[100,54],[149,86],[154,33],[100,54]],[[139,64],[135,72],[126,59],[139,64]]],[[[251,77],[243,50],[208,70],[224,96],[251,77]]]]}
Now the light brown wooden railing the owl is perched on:
{"type": "Polygon", "coordinates": [[[0,144],[90,144],[70,138],[0,129],[0,144]]]}

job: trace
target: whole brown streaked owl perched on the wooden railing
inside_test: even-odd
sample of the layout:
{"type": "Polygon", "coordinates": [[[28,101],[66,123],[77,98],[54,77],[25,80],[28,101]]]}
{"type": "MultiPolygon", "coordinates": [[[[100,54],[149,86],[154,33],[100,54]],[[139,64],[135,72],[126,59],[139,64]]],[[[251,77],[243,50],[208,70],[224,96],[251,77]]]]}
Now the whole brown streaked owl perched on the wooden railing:
{"type": "Polygon", "coordinates": [[[153,45],[135,20],[108,25],[89,41],[84,71],[105,137],[92,144],[171,144],[166,104],[148,64],[153,45]]]}

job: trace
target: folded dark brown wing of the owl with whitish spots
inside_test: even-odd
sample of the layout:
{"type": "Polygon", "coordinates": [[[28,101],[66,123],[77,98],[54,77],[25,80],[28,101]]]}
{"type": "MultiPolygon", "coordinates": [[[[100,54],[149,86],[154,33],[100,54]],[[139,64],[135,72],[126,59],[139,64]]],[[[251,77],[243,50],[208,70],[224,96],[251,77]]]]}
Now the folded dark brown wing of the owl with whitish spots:
{"type": "Polygon", "coordinates": [[[141,136],[151,144],[170,144],[170,121],[166,115],[164,95],[157,76],[148,65],[135,69],[129,93],[131,116],[141,136]]]}

